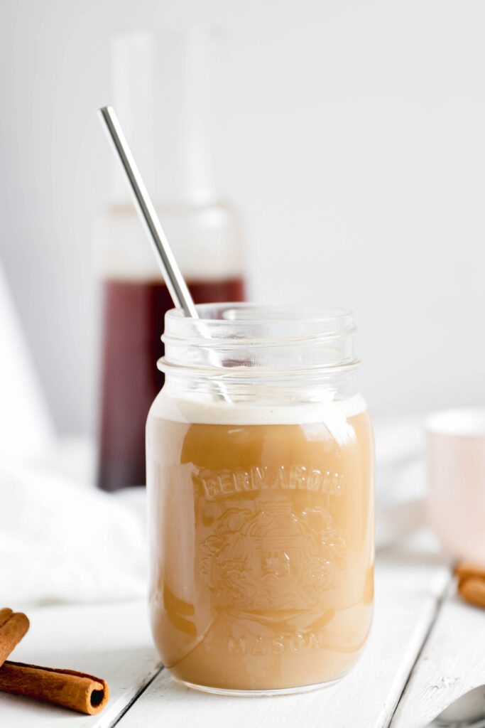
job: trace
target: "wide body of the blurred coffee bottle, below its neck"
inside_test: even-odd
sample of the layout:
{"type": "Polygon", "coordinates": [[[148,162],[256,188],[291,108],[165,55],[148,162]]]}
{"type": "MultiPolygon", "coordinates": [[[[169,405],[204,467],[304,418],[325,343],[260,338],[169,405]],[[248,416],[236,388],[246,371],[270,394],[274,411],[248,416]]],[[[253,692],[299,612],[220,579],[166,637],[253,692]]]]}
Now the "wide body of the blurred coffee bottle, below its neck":
{"type": "MultiPolygon", "coordinates": [[[[196,304],[244,301],[239,216],[230,205],[156,205],[196,304]]],[[[100,220],[103,285],[97,484],[145,485],[145,422],[164,383],[160,332],[174,307],[132,205],[100,220]]]]}

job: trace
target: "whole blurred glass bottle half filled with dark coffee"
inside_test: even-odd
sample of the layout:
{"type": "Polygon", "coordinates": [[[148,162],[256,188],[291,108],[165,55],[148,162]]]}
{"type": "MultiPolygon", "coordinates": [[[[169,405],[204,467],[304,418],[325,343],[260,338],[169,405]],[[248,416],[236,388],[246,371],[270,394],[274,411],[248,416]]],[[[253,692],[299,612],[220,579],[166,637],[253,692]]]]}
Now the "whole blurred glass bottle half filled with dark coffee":
{"type": "MultiPolygon", "coordinates": [[[[213,39],[135,33],[112,44],[113,106],[196,303],[244,300],[241,223],[220,202],[210,137],[213,39]]],[[[98,485],[145,483],[145,421],[163,384],[156,360],[173,307],[119,170],[98,226],[103,285],[98,485]]]]}

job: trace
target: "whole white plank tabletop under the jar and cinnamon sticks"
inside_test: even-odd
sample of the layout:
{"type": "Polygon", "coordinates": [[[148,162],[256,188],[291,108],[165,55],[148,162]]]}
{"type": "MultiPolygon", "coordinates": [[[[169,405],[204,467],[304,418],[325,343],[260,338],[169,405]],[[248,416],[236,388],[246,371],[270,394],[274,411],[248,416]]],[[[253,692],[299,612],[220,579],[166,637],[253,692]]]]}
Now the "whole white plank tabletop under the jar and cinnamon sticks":
{"type": "Polygon", "coordinates": [[[361,662],[340,684],[304,695],[233,698],[176,684],[151,644],[145,604],[45,606],[12,659],[105,678],[99,716],[0,694],[6,728],[420,728],[485,683],[485,611],[454,596],[449,565],[419,550],[380,553],[375,617],[361,662]]]}

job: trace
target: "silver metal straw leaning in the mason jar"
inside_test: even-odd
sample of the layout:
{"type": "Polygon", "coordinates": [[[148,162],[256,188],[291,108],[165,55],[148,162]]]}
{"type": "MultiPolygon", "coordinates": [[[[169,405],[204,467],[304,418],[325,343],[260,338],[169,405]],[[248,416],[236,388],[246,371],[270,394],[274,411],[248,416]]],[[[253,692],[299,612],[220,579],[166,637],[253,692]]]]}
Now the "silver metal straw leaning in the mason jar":
{"type": "MultiPolygon", "coordinates": [[[[118,116],[116,116],[112,106],[103,106],[103,108],[100,108],[100,116],[101,119],[103,119],[106,130],[108,131],[108,136],[113,143],[113,149],[116,151],[116,155],[121,162],[124,173],[127,175],[127,181],[129,183],[129,188],[132,191],[132,197],[135,202],[137,213],[143,223],[148,240],[150,240],[153,245],[153,250],[155,251],[156,259],[159,262],[161,269],[161,274],[163,275],[164,281],[169,289],[170,296],[172,296],[172,301],[177,308],[183,309],[185,316],[199,318],[196,306],[193,304],[192,296],[187,288],[183,275],[180,272],[180,268],[177,265],[177,261],[172,253],[172,248],[170,248],[167,236],[161,227],[155,207],[153,207],[153,202],[150,199],[148,190],[146,189],[145,183],[140,175],[135,158],[133,157],[131,149],[129,149],[128,142],[123,130],[121,129],[118,116]]],[[[209,359],[215,366],[220,366],[220,361],[217,360],[217,357],[212,350],[209,351],[209,359]]],[[[217,393],[226,402],[231,401],[221,382],[218,382],[217,384],[217,393]]]]}

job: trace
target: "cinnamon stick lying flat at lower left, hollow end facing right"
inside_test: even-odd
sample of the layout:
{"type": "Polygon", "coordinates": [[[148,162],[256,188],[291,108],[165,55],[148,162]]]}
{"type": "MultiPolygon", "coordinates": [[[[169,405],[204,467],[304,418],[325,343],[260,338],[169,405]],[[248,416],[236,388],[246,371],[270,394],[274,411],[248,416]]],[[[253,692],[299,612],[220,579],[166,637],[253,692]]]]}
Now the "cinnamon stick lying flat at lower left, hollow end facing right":
{"type": "Polygon", "coordinates": [[[101,678],[10,661],[0,668],[0,690],[63,705],[89,716],[100,713],[109,697],[108,684],[101,678]]]}

